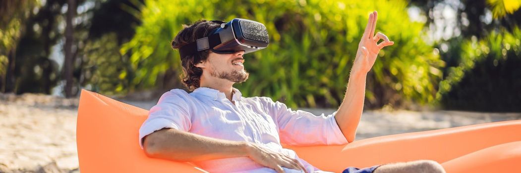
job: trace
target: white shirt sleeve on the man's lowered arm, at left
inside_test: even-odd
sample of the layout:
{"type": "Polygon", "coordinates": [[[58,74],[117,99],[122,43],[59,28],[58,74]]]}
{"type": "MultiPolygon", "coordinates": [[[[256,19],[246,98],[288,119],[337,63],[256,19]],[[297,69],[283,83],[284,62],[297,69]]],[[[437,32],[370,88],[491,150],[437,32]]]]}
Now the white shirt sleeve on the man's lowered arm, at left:
{"type": "Polygon", "coordinates": [[[156,130],[172,128],[189,131],[191,123],[191,111],[189,107],[190,96],[184,90],[173,89],[159,98],[154,107],[148,111],[148,118],[139,129],[139,144],[143,149],[143,138],[156,130]]]}

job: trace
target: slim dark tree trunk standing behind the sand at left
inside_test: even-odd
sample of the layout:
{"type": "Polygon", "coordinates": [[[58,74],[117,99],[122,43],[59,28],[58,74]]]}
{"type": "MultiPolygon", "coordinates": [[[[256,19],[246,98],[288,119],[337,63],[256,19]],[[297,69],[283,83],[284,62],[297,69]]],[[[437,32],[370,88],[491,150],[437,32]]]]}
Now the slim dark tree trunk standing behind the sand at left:
{"type": "Polygon", "coordinates": [[[72,86],[74,85],[72,81],[72,70],[73,66],[73,53],[72,53],[72,43],[74,42],[73,32],[74,26],[72,25],[72,19],[76,15],[76,0],[67,0],[67,26],[65,28],[65,97],[72,97],[74,94],[72,93],[72,86]]]}

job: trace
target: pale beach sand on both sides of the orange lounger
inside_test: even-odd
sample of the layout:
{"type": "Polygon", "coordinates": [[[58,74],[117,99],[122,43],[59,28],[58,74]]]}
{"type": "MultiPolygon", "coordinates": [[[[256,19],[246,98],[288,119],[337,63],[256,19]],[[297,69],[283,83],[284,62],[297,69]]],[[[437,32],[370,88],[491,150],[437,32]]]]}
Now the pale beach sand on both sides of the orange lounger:
{"type": "MultiPolygon", "coordinates": [[[[150,109],[155,101],[127,101],[150,109]]],[[[0,94],[0,172],[79,172],[78,98],[0,94]]],[[[316,115],[332,109],[303,109],[316,115]]],[[[521,119],[521,113],[365,111],[356,139],[521,119]]]]}

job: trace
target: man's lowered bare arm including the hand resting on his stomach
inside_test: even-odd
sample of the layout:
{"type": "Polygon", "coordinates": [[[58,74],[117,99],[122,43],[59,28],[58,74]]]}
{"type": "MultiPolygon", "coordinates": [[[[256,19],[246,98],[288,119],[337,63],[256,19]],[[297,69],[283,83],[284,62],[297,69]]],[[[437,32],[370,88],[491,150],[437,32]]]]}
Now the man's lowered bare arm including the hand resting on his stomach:
{"type": "Polygon", "coordinates": [[[281,167],[305,170],[296,159],[255,143],[209,138],[170,128],[147,135],[143,145],[147,156],[177,162],[245,156],[277,172],[283,172],[281,167]]]}

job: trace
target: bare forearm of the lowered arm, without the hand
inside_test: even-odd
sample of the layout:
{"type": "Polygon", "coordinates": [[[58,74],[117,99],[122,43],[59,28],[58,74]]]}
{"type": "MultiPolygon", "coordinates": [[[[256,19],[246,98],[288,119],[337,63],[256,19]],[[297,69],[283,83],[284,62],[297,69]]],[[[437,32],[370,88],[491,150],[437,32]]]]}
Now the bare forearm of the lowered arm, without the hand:
{"type": "Polygon", "coordinates": [[[172,161],[194,162],[247,156],[246,142],[209,138],[176,129],[162,129],[146,136],[145,153],[172,161]]]}

